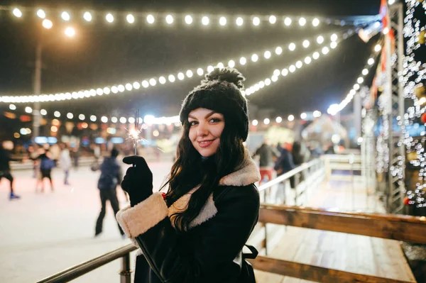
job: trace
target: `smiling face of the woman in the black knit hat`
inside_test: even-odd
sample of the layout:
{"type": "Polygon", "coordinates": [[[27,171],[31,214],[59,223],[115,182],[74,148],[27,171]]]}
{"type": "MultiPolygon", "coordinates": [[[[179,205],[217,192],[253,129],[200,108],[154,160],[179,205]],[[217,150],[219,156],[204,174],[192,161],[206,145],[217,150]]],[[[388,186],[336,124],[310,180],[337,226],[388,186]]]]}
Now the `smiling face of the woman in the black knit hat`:
{"type": "Polygon", "coordinates": [[[190,123],[190,140],[195,150],[204,157],[217,152],[220,135],[225,128],[224,116],[210,109],[197,108],[188,116],[190,123]]]}

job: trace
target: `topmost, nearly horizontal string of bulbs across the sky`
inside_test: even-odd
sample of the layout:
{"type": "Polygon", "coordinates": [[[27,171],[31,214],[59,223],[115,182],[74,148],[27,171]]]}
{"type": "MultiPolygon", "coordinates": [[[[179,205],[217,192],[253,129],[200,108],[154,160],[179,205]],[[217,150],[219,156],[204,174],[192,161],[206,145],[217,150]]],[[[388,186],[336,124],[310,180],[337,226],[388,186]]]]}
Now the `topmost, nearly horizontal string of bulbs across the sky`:
{"type": "MultiPolygon", "coordinates": [[[[60,21],[70,22],[74,18],[84,19],[87,23],[91,23],[94,19],[102,18],[102,21],[112,24],[117,21],[117,18],[126,18],[126,22],[133,25],[136,23],[146,23],[148,26],[153,26],[155,23],[163,22],[167,26],[175,23],[185,23],[187,26],[195,24],[199,21],[201,26],[211,26],[215,23],[219,26],[229,26],[231,22],[237,27],[244,26],[244,23],[251,21],[253,26],[260,26],[267,24],[274,26],[282,21],[285,26],[291,26],[293,21],[297,21],[299,26],[306,26],[309,21],[312,26],[317,27],[320,23],[327,25],[337,26],[359,26],[362,24],[377,21],[378,16],[365,16],[363,20],[356,19],[339,19],[339,18],[325,18],[325,17],[302,17],[302,16],[275,16],[275,15],[239,15],[239,16],[219,16],[206,14],[191,15],[183,13],[141,13],[141,12],[100,12],[100,11],[79,11],[71,13],[60,9],[31,9],[31,8],[18,8],[13,6],[0,6],[0,10],[10,11],[16,18],[21,18],[24,13],[30,13],[41,19],[46,17],[58,17],[60,21]],[[233,20],[233,21],[232,21],[233,20]]],[[[50,22],[51,23],[51,22],[50,22]]]]}

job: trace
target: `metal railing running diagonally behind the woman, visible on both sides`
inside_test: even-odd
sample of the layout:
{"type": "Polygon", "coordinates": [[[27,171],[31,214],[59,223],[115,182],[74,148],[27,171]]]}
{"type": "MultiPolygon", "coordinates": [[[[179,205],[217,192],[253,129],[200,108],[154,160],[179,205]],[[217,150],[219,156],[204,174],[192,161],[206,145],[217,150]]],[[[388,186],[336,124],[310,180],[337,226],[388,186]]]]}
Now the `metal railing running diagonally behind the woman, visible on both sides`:
{"type": "MultiPolygon", "coordinates": [[[[312,182],[317,182],[319,178],[315,178],[318,172],[324,172],[324,162],[320,159],[312,160],[310,162],[304,163],[289,172],[286,172],[279,177],[267,182],[266,184],[262,184],[258,187],[259,192],[266,192],[267,189],[272,188],[273,186],[287,182],[291,177],[295,177],[295,202],[297,202],[297,198],[302,194],[305,194],[306,187],[312,182]],[[297,186],[300,184],[300,174],[304,174],[309,177],[305,178],[306,185],[301,192],[297,192],[297,186]]],[[[324,174],[323,174],[324,175],[324,174]]],[[[265,233],[266,225],[263,223],[259,223],[261,226],[264,226],[265,233]]],[[[266,234],[265,234],[266,235],[266,234]]],[[[265,240],[262,241],[263,248],[266,249],[266,236],[265,240]]],[[[67,270],[63,270],[62,272],[53,274],[50,277],[42,279],[37,283],[62,283],[62,282],[70,282],[72,279],[76,279],[88,272],[96,270],[98,267],[102,267],[103,265],[107,265],[109,262],[113,260],[117,260],[121,257],[121,272],[120,272],[120,282],[121,283],[130,283],[131,282],[131,269],[130,269],[130,253],[133,250],[137,250],[136,246],[133,244],[125,245],[124,247],[113,250],[109,253],[101,255],[99,257],[95,257],[92,260],[88,260],[87,262],[82,262],[79,265],[75,265],[74,267],[70,267],[67,270]]]]}

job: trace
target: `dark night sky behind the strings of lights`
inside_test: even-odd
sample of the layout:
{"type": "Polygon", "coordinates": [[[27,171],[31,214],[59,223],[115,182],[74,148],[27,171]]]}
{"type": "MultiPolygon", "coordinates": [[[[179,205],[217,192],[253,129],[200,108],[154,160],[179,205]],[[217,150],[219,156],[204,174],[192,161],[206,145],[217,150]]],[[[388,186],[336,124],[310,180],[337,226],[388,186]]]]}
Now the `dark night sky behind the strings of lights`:
{"type": "MultiPolygon", "coordinates": [[[[84,9],[102,11],[90,24],[82,18],[70,22],[77,35],[65,38],[64,28],[58,14],[49,16],[54,27],[44,30],[40,20],[33,14],[24,13],[15,18],[10,12],[0,11],[0,94],[32,94],[35,43],[43,32],[43,80],[42,93],[79,91],[126,82],[141,82],[143,79],[177,74],[214,62],[238,60],[241,55],[264,50],[273,50],[281,45],[285,52],[273,60],[259,60],[246,66],[236,67],[246,76],[246,86],[271,77],[273,70],[288,67],[295,60],[312,55],[314,48],[297,50],[290,54],[288,43],[332,31],[342,32],[350,26],[333,26],[322,23],[312,28],[309,23],[300,28],[296,23],[288,28],[283,23],[271,28],[269,23],[253,27],[235,25],[220,28],[215,24],[203,27],[200,19],[192,26],[176,23],[165,26],[158,23],[146,25],[145,18],[136,18],[133,26],[124,17],[116,18],[113,24],[104,20],[105,13],[118,11],[133,12],[181,12],[243,15],[274,14],[276,16],[358,16],[376,15],[380,0],[317,0],[317,1],[0,1],[1,5],[66,9],[72,16],[84,9]],[[99,4],[102,2],[102,4],[99,4]],[[102,17],[102,18],[101,18],[102,17]]],[[[163,19],[162,19],[163,20],[163,19]]],[[[158,19],[159,21],[159,19],[158,19]]],[[[164,21],[164,20],[163,20],[164,21]]],[[[228,20],[230,21],[230,19],[228,20]]],[[[298,115],[302,111],[327,111],[330,104],[339,103],[351,89],[359,76],[376,38],[364,43],[358,35],[344,40],[336,50],[304,66],[294,74],[280,79],[278,83],[257,91],[249,101],[260,108],[274,109],[274,115],[298,115]]],[[[317,49],[317,48],[316,48],[317,49]]],[[[247,57],[247,56],[246,56],[247,57]]],[[[248,58],[249,59],[249,58],[248,58]]],[[[55,110],[95,114],[97,116],[131,116],[135,109],[143,115],[173,116],[178,114],[182,99],[200,82],[195,74],[173,84],[167,83],[125,91],[109,96],[72,101],[56,101],[42,104],[52,113],[55,110]]],[[[1,109],[6,108],[1,104],[1,109]]],[[[18,107],[23,110],[23,105],[18,107]]],[[[19,110],[18,109],[18,110],[19,110]]],[[[253,117],[263,118],[263,117],[253,117]]]]}

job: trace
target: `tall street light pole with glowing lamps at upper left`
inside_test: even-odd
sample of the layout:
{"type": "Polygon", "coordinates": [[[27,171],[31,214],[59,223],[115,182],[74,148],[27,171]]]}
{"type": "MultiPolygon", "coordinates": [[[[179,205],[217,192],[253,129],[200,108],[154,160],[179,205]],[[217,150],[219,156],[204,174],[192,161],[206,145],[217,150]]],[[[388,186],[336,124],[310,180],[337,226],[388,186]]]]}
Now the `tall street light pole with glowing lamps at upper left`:
{"type": "MultiPolygon", "coordinates": [[[[48,20],[43,20],[43,28],[50,29],[53,27],[53,23],[48,20]]],[[[74,28],[66,28],[65,35],[69,38],[72,38],[75,35],[74,28]]],[[[43,52],[43,30],[40,34],[40,38],[37,42],[37,47],[35,48],[35,70],[34,70],[34,82],[33,82],[33,92],[35,96],[39,96],[41,92],[41,68],[42,68],[42,52],[43,52]]],[[[33,139],[40,135],[40,102],[35,101],[33,105],[33,139]]]]}

